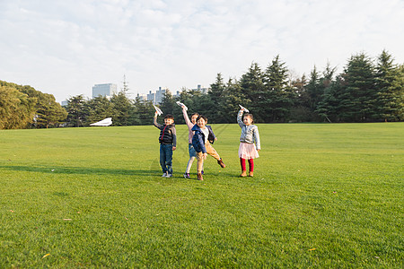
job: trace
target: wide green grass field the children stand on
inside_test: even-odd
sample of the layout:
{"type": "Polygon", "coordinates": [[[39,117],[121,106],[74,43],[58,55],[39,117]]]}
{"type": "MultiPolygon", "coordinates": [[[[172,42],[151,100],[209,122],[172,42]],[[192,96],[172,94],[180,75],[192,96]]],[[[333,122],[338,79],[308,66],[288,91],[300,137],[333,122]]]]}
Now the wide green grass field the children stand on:
{"type": "MultiPolygon", "coordinates": [[[[402,268],[404,123],[214,125],[205,180],[161,178],[154,126],[0,131],[0,268],[402,268]]],[[[196,170],[196,163],[192,171],[196,170]]]]}

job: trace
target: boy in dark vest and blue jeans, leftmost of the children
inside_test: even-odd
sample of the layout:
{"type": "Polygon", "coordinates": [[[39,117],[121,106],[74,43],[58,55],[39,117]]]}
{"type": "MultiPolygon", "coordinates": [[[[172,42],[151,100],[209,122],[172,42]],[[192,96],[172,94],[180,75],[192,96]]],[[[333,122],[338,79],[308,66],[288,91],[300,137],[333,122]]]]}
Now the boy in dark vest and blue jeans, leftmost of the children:
{"type": "Polygon", "coordinates": [[[164,117],[164,125],[157,123],[157,112],[154,114],[154,126],[160,129],[160,165],[162,177],[172,177],[172,151],[177,147],[177,133],[174,125],[174,117],[167,114],[164,117]]]}

